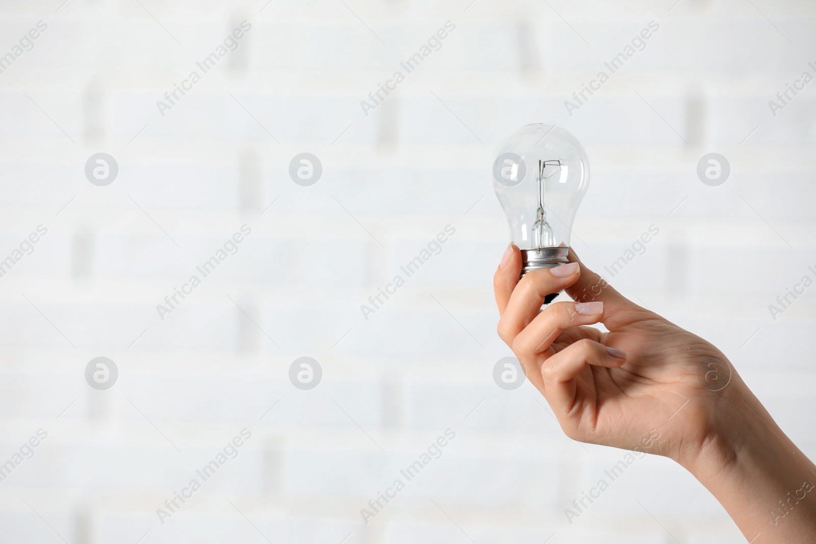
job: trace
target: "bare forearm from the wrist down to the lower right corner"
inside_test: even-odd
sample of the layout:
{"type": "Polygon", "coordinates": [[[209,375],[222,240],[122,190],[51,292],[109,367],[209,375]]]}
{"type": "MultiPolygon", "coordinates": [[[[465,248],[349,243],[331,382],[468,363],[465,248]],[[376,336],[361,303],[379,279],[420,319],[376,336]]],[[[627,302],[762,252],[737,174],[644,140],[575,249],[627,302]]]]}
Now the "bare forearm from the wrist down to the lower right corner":
{"type": "Polygon", "coordinates": [[[683,464],[752,544],[816,542],[816,466],[743,383],[725,396],[715,428],[683,464]]]}

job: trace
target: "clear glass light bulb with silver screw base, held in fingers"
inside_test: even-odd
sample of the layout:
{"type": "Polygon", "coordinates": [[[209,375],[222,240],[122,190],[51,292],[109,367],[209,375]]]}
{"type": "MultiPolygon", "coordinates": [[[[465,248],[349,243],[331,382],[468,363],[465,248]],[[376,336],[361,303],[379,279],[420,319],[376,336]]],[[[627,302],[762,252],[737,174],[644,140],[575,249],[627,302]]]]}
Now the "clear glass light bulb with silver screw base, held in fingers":
{"type": "Polygon", "coordinates": [[[589,184],[589,160],[579,141],[560,126],[522,126],[496,148],[492,179],[510,239],[521,249],[521,275],[566,263],[572,223],[589,184]]]}

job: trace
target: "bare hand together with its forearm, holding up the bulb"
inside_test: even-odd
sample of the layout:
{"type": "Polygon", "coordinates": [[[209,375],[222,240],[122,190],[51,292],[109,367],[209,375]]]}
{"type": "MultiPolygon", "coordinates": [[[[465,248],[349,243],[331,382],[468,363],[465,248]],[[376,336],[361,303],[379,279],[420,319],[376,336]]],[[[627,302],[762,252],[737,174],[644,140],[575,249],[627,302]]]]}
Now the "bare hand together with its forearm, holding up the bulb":
{"type": "Polygon", "coordinates": [[[520,275],[511,244],[494,276],[499,337],[567,436],[673,459],[747,542],[816,542],[816,466],[720,350],[623,297],[571,250],[569,264],[520,275]],[[574,302],[542,307],[560,290],[574,302]]]}

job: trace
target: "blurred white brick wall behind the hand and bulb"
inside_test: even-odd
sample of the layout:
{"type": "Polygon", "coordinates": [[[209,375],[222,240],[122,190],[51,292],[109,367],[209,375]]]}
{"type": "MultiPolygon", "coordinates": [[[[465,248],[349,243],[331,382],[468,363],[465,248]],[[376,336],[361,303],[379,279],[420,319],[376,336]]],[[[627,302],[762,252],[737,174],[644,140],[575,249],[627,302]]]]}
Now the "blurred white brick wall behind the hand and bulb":
{"type": "Polygon", "coordinates": [[[743,542],[662,458],[568,524],[623,452],[565,438],[529,384],[493,383],[508,233],[487,172],[529,122],[587,148],[584,261],[600,271],[658,226],[614,285],[721,347],[816,455],[814,293],[768,310],[816,264],[816,86],[768,106],[816,61],[812,2],[60,2],[0,2],[0,55],[47,24],[0,74],[0,259],[48,229],[0,278],[0,462],[48,433],[0,482],[0,542],[743,542]],[[156,101],[242,20],[237,51],[162,117],[156,101]],[[360,101],[447,20],[441,50],[366,117],[360,101]],[[564,101],[652,20],[570,117],[564,101]],[[99,152],[118,161],[107,187],[84,175],[99,152]],[[311,187],[287,171],[304,152],[322,161],[311,187]],[[730,161],[720,187],[695,173],[711,152],[730,161]],[[160,320],[242,224],[237,254],[160,320]],[[96,356],[118,365],[107,391],[84,378],[96,356]],[[299,356],[322,365],[311,391],[289,381],[299,356]],[[238,457],[161,524],[245,427],[238,457]],[[446,428],[441,458],[364,524],[446,428]]]}

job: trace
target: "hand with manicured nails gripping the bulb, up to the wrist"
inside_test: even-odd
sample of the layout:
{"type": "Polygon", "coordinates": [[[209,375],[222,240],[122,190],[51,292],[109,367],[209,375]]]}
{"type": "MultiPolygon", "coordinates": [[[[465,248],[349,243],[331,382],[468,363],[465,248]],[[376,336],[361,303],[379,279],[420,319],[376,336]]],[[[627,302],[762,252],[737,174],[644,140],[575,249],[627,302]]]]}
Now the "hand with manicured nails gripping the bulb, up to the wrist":
{"type": "Polygon", "coordinates": [[[494,276],[499,336],[575,440],[682,461],[707,444],[715,409],[739,378],[712,344],[625,299],[570,253],[521,272],[508,248],[494,276]],[[578,302],[544,296],[565,289],[578,302]],[[590,327],[603,323],[609,332],[590,327]],[[660,440],[654,440],[658,435],[660,440]]]}

